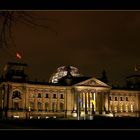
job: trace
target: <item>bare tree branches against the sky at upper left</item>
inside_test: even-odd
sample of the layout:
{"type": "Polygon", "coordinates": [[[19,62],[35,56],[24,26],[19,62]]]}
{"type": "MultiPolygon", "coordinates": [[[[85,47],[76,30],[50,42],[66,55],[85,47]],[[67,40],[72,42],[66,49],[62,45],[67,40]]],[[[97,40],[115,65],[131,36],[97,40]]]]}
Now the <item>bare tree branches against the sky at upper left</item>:
{"type": "Polygon", "coordinates": [[[48,18],[40,18],[30,11],[0,11],[0,48],[14,44],[13,28],[16,24],[22,23],[31,27],[51,29],[45,22],[41,22],[44,20],[48,18]]]}

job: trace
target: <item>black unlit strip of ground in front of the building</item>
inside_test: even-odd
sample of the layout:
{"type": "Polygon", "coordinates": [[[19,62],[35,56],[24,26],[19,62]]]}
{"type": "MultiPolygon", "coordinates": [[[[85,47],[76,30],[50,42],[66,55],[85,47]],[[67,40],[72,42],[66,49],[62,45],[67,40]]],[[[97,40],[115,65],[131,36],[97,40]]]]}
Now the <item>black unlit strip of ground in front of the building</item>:
{"type": "Polygon", "coordinates": [[[139,130],[140,118],[94,118],[93,120],[0,120],[1,130],[139,130]]]}

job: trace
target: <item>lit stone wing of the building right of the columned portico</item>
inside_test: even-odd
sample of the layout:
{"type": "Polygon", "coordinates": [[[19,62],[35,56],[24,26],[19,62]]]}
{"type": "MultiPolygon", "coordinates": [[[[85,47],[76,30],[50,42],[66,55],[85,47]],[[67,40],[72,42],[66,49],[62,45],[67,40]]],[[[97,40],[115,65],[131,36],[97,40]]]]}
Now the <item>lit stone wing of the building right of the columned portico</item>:
{"type": "Polygon", "coordinates": [[[139,90],[111,90],[110,108],[116,116],[139,116],[139,90]]]}

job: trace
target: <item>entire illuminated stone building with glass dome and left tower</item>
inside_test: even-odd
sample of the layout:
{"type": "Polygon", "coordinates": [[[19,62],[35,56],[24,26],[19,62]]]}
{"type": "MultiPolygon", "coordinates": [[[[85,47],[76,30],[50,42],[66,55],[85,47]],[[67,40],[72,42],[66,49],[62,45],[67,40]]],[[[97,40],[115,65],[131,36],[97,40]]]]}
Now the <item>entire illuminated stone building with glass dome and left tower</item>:
{"type": "Polygon", "coordinates": [[[57,69],[49,82],[30,81],[27,64],[8,63],[0,82],[0,115],[11,118],[138,116],[140,91],[111,89],[72,66],[57,69]]]}

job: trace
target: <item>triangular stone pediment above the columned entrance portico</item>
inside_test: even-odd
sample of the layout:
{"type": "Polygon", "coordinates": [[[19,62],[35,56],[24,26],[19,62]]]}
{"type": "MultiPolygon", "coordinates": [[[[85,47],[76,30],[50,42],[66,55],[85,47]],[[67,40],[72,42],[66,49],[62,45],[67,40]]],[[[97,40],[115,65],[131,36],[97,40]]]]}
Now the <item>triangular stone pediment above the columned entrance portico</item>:
{"type": "Polygon", "coordinates": [[[77,84],[75,84],[75,86],[91,86],[91,87],[108,87],[108,88],[110,88],[109,85],[96,79],[95,77],[82,81],[80,83],[77,83],[77,84]]]}

